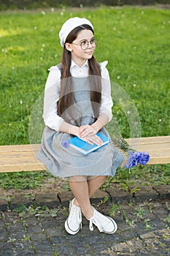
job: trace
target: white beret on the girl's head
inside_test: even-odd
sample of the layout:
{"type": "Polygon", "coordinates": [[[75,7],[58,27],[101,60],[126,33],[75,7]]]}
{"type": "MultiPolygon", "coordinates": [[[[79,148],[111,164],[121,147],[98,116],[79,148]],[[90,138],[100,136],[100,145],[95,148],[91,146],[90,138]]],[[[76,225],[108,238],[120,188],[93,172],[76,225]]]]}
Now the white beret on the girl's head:
{"type": "Polygon", "coordinates": [[[69,20],[66,20],[66,22],[63,23],[63,26],[61,27],[61,31],[59,32],[59,37],[61,39],[62,47],[65,44],[66,37],[68,36],[68,34],[73,29],[77,28],[77,26],[80,26],[83,24],[87,24],[93,29],[92,23],[90,23],[90,21],[87,20],[86,18],[74,17],[74,18],[70,18],[69,20]]]}

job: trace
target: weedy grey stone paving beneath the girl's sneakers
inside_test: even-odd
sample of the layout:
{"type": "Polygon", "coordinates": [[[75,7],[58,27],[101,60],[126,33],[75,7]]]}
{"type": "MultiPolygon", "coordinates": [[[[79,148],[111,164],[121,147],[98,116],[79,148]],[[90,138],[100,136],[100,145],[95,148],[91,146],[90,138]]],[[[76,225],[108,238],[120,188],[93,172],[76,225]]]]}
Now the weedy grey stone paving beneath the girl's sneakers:
{"type": "Polygon", "coordinates": [[[106,235],[96,227],[90,231],[88,220],[83,217],[82,230],[76,236],[64,230],[70,192],[20,192],[3,198],[0,255],[170,255],[169,195],[170,186],[143,187],[139,191],[131,188],[131,192],[125,192],[119,185],[112,185],[107,192],[98,191],[92,198],[93,206],[111,217],[115,214],[117,233],[106,235]]]}

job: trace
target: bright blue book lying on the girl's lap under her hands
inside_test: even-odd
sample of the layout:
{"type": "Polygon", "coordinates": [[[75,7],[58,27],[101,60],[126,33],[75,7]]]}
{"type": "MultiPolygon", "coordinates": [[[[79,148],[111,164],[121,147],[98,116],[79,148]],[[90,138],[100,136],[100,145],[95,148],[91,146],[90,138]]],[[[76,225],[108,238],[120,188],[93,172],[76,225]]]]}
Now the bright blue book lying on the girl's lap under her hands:
{"type": "Polygon", "coordinates": [[[103,144],[101,146],[98,146],[96,144],[91,145],[85,142],[84,140],[81,140],[77,136],[69,140],[69,146],[71,146],[72,148],[75,148],[77,151],[80,151],[82,154],[85,154],[85,155],[89,154],[95,151],[96,149],[101,148],[109,143],[108,137],[101,135],[101,133],[99,132],[97,133],[97,135],[103,141],[103,144]]]}

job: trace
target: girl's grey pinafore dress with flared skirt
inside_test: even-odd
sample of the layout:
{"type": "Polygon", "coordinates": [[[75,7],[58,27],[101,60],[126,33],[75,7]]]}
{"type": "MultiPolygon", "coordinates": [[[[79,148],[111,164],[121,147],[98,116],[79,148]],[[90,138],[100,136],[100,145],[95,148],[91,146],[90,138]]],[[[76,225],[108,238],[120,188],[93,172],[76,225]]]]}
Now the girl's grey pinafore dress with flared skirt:
{"type": "MultiPolygon", "coordinates": [[[[79,113],[79,126],[93,124],[96,121],[93,108],[90,102],[90,90],[88,77],[72,78],[74,84],[74,108],[79,113]]],[[[75,121],[66,113],[69,123],[76,125],[75,121]]],[[[99,132],[109,137],[105,128],[99,132]]],[[[36,157],[47,167],[47,170],[58,177],[71,176],[115,176],[117,167],[123,162],[123,154],[110,143],[98,148],[88,155],[83,155],[71,146],[63,147],[65,140],[72,138],[72,135],[63,132],[56,132],[45,127],[42,135],[42,143],[36,157]]]]}

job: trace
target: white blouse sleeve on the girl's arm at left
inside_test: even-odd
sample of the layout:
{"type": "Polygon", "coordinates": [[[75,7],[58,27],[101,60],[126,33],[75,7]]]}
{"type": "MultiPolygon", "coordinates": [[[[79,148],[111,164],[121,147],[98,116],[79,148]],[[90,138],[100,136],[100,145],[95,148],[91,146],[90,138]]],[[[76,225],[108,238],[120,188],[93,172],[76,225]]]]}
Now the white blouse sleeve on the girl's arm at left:
{"type": "Polygon", "coordinates": [[[45,125],[59,131],[63,118],[58,116],[57,102],[60,96],[61,71],[57,66],[50,67],[45,84],[43,119],[45,125]]]}

